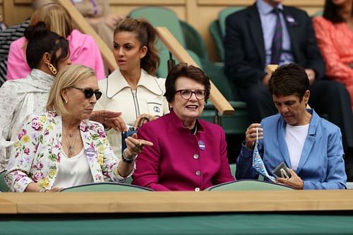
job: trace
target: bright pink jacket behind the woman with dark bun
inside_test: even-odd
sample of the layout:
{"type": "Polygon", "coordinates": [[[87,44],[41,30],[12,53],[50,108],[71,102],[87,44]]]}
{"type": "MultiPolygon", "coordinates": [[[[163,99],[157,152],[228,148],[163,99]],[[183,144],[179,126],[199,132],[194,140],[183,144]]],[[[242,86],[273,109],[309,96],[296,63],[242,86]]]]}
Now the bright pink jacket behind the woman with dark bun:
{"type": "MultiPolygon", "coordinates": [[[[100,49],[90,35],[73,30],[67,37],[72,64],[83,64],[95,70],[98,80],[105,78],[100,49]]],[[[6,79],[25,78],[30,74],[30,67],[25,59],[23,44],[25,37],[13,41],[8,52],[6,79]]]]}

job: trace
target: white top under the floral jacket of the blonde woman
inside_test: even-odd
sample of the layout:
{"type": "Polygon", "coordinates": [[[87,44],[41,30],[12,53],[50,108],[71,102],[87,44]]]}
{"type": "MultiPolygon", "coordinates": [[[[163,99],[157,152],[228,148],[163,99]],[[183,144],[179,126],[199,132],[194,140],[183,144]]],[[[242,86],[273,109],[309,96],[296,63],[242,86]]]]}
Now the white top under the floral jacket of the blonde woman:
{"type": "Polygon", "coordinates": [[[70,158],[66,157],[64,151],[61,151],[59,171],[52,188],[68,188],[92,182],[93,177],[90,173],[90,166],[87,156],[85,155],[85,149],[82,148],[78,155],[70,158]]]}

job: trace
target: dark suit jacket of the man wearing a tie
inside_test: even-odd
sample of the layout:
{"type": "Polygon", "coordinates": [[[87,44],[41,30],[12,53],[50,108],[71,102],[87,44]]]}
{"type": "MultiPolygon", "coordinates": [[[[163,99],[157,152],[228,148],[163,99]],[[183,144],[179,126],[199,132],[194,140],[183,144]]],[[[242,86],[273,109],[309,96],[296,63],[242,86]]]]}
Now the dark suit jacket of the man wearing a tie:
{"type": "MultiPolygon", "coordinates": [[[[325,64],[316,44],[311,18],[305,11],[291,6],[284,6],[283,15],[294,62],[312,68],[316,79],[323,78],[325,64]],[[287,18],[294,18],[294,22],[288,22],[287,18]]],[[[225,73],[229,80],[244,88],[259,83],[265,76],[265,44],[256,4],[226,19],[225,73]]]]}

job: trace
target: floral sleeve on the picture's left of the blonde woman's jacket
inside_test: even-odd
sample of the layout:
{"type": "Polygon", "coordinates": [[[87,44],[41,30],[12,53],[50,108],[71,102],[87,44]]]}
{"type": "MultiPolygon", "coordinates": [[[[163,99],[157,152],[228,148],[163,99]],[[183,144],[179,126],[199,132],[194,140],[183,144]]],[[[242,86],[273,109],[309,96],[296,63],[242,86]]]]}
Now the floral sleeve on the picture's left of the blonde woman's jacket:
{"type": "Polygon", "coordinates": [[[37,115],[28,116],[13,145],[5,175],[6,184],[11,188],[11,191],[24,192],[28,184],[33,182],[28,174],[37,147],[42,141],[38,119],[37,115]]]}

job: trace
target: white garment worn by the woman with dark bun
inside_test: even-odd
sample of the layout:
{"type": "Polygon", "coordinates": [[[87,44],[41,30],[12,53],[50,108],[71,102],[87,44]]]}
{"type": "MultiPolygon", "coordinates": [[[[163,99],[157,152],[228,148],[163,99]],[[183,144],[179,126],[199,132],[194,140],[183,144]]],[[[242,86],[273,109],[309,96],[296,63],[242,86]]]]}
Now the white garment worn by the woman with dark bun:
{"type": "Polygon", "coordinates": [[[0,171],[6,168],[13,138],[20,132],[25,117],[44,112],[50,87],[55,79],[32,69],[24,79],[8,80],[0,88],[0,171]]]}

